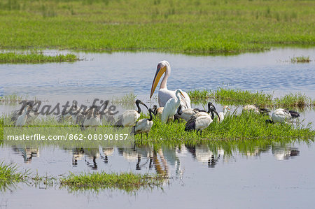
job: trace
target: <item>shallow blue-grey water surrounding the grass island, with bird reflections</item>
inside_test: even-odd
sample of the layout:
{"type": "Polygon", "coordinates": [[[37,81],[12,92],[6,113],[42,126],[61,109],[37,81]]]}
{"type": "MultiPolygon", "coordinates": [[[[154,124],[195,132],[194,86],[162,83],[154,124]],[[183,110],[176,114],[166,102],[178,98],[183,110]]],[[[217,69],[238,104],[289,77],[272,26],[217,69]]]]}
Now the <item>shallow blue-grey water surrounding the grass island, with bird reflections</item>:
{"type": "MultiPolygon", "coordinates": [[[[49,99],[55,96],[56,100],[86,96],[89,91],[93,95],[104,92],[107,95],[114,89],[124,92],[132,87],[134,94],[148,102],[156,64],[167,59],[172,66],[169,89],[227,86],[274,92],[276,96],[303,92],[312,99],[315,97],[315,62],[288,62],[290,57],[300,55],[315,59],[314,49],[285,48],[228,57],[151,52],[78,55],[86,60],[73,64],[0,64],[4,78],[0,94],[18,92],[49,99]]],[[[0,113],[7,114],[15,108],[2,105],[0,113]]],[[[221,106],[217,109],[221,110],[221,106]]],[[[314,110],[301,113],[304,124],[314,122],[314,118],[314,110]]],[[[170,178],[163,190],[145,189],[135,195],[115,189],[105,189],[98,194],[71,193],[58,186],[35,188],[19,184],[12,192],[1,192],[0,208],[160,208],[165,204],[182,208],[309,208],[315,204],[314,143],[235,147],[231,153],[223,147],[182,145],[162,147],[155,154],[150,146],[32,150],[2,145],[0,159],[41,175],[57,176],[69,171],[159,173],[158,167],[162,167],[170,178]]]]}

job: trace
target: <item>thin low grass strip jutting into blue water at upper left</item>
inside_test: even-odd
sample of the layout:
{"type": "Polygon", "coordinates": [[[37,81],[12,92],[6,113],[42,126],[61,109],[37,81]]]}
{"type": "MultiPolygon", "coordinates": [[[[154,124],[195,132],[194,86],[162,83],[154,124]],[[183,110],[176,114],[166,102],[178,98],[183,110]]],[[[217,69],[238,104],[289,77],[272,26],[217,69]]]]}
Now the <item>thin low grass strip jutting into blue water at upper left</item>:
{"type": "Polygon", "coordinates": [[[17,54],[15,52],[0,53],[0,63],[43,63],[43,62],[75,62],[76,55],[43,55],[36,53],[17,54]]]}

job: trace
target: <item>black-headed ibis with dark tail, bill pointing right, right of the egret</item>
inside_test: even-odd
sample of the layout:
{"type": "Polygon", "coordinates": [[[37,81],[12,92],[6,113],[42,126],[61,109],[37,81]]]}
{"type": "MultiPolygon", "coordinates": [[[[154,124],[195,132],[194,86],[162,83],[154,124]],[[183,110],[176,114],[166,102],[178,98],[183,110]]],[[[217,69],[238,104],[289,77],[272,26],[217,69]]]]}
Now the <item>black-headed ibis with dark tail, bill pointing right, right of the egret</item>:
{"type": "MultiPolygon", "coordinates": [[[[211,122],[214,121],[214,113],[218,115],[218,113],[216,112],[216,108],[214,107],[213,104],[211,104],[210,113],[211,113],[211,117],[209,113],[205,113],[205,112],[199,112],[193,115],[190,118],[190,120],[188,120],[188,122],[186,123],[185,131],[197,130],[197,134],[198,134],[198,131],[200,131],[200,136],[202,136],[202,130],[209,127],[209,124],[211,124],[211,122]]],[[[218,115],[218,120],[220,121],[219,115],[218,115]]]]}

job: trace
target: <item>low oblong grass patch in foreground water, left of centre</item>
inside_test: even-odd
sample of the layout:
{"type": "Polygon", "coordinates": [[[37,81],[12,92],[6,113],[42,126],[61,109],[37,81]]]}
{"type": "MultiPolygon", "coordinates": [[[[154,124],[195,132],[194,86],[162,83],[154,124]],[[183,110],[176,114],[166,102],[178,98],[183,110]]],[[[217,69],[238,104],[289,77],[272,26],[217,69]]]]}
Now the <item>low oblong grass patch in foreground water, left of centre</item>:
{"type": "Polygon", "coordinates": [[[71,191],[99,189],[122,189],[126,192],[134,192],[141,188],[160,187],[164,178],[159,175],[134,174],[134,173],[71,173],[60,180],[62,187],[71,191]]]}

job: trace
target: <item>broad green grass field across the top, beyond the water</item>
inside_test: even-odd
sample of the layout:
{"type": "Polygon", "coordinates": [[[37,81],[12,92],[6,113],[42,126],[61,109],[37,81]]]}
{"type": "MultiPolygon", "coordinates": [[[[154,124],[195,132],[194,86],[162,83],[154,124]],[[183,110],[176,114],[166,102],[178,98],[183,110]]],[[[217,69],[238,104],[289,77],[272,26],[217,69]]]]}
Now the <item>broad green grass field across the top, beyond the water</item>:
{"type": "Polygon", "coordinates": [[[209,54],[314,46],[314,6],[311,0],[3,0],[0,48],[209,54]]]}

